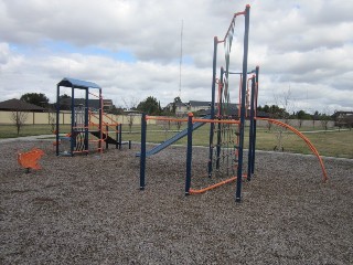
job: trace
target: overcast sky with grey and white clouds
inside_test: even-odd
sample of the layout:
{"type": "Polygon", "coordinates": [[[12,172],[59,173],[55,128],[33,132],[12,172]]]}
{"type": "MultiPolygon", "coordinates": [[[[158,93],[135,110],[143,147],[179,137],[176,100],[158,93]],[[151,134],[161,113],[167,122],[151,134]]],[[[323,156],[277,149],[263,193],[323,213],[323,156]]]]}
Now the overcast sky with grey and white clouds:
{"type": "MultiPolygon", "coordinates": [[[[353,110],[353,1],[339,0],[0,0],[0,102],[43,93],[53,103],[63,77],[97,83],[122,107],[148,96],[162,106],[179,95],[211,100],[213,38],[247,3],[259,104],[287,95],[289,110],[353,110]]],[[[233,71],[243,33],[238,17],[233,71]]],[[[229,81],[233,102],[238,82],[229,81]]]]}

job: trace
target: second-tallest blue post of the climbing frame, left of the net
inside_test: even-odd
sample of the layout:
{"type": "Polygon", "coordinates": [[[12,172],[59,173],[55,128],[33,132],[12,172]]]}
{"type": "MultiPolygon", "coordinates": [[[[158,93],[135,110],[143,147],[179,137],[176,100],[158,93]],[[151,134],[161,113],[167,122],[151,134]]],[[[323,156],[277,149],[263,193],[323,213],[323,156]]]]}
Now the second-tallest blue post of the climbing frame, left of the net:
{"type": "MultiPolygon", "coordinates": [[[[211,99],[211,119],[214,119],[215,113],[215,94],[216,94],[216,67],[217,67],[217,45],[218,38],[213,39],[213,70],[212,70],[212,99],[211,99]]],[[[208,146],[208,177],[212,176],[212,159],[213,159],[213,134],[214,124],[210,125],[210,146],[208,146]]]]}

